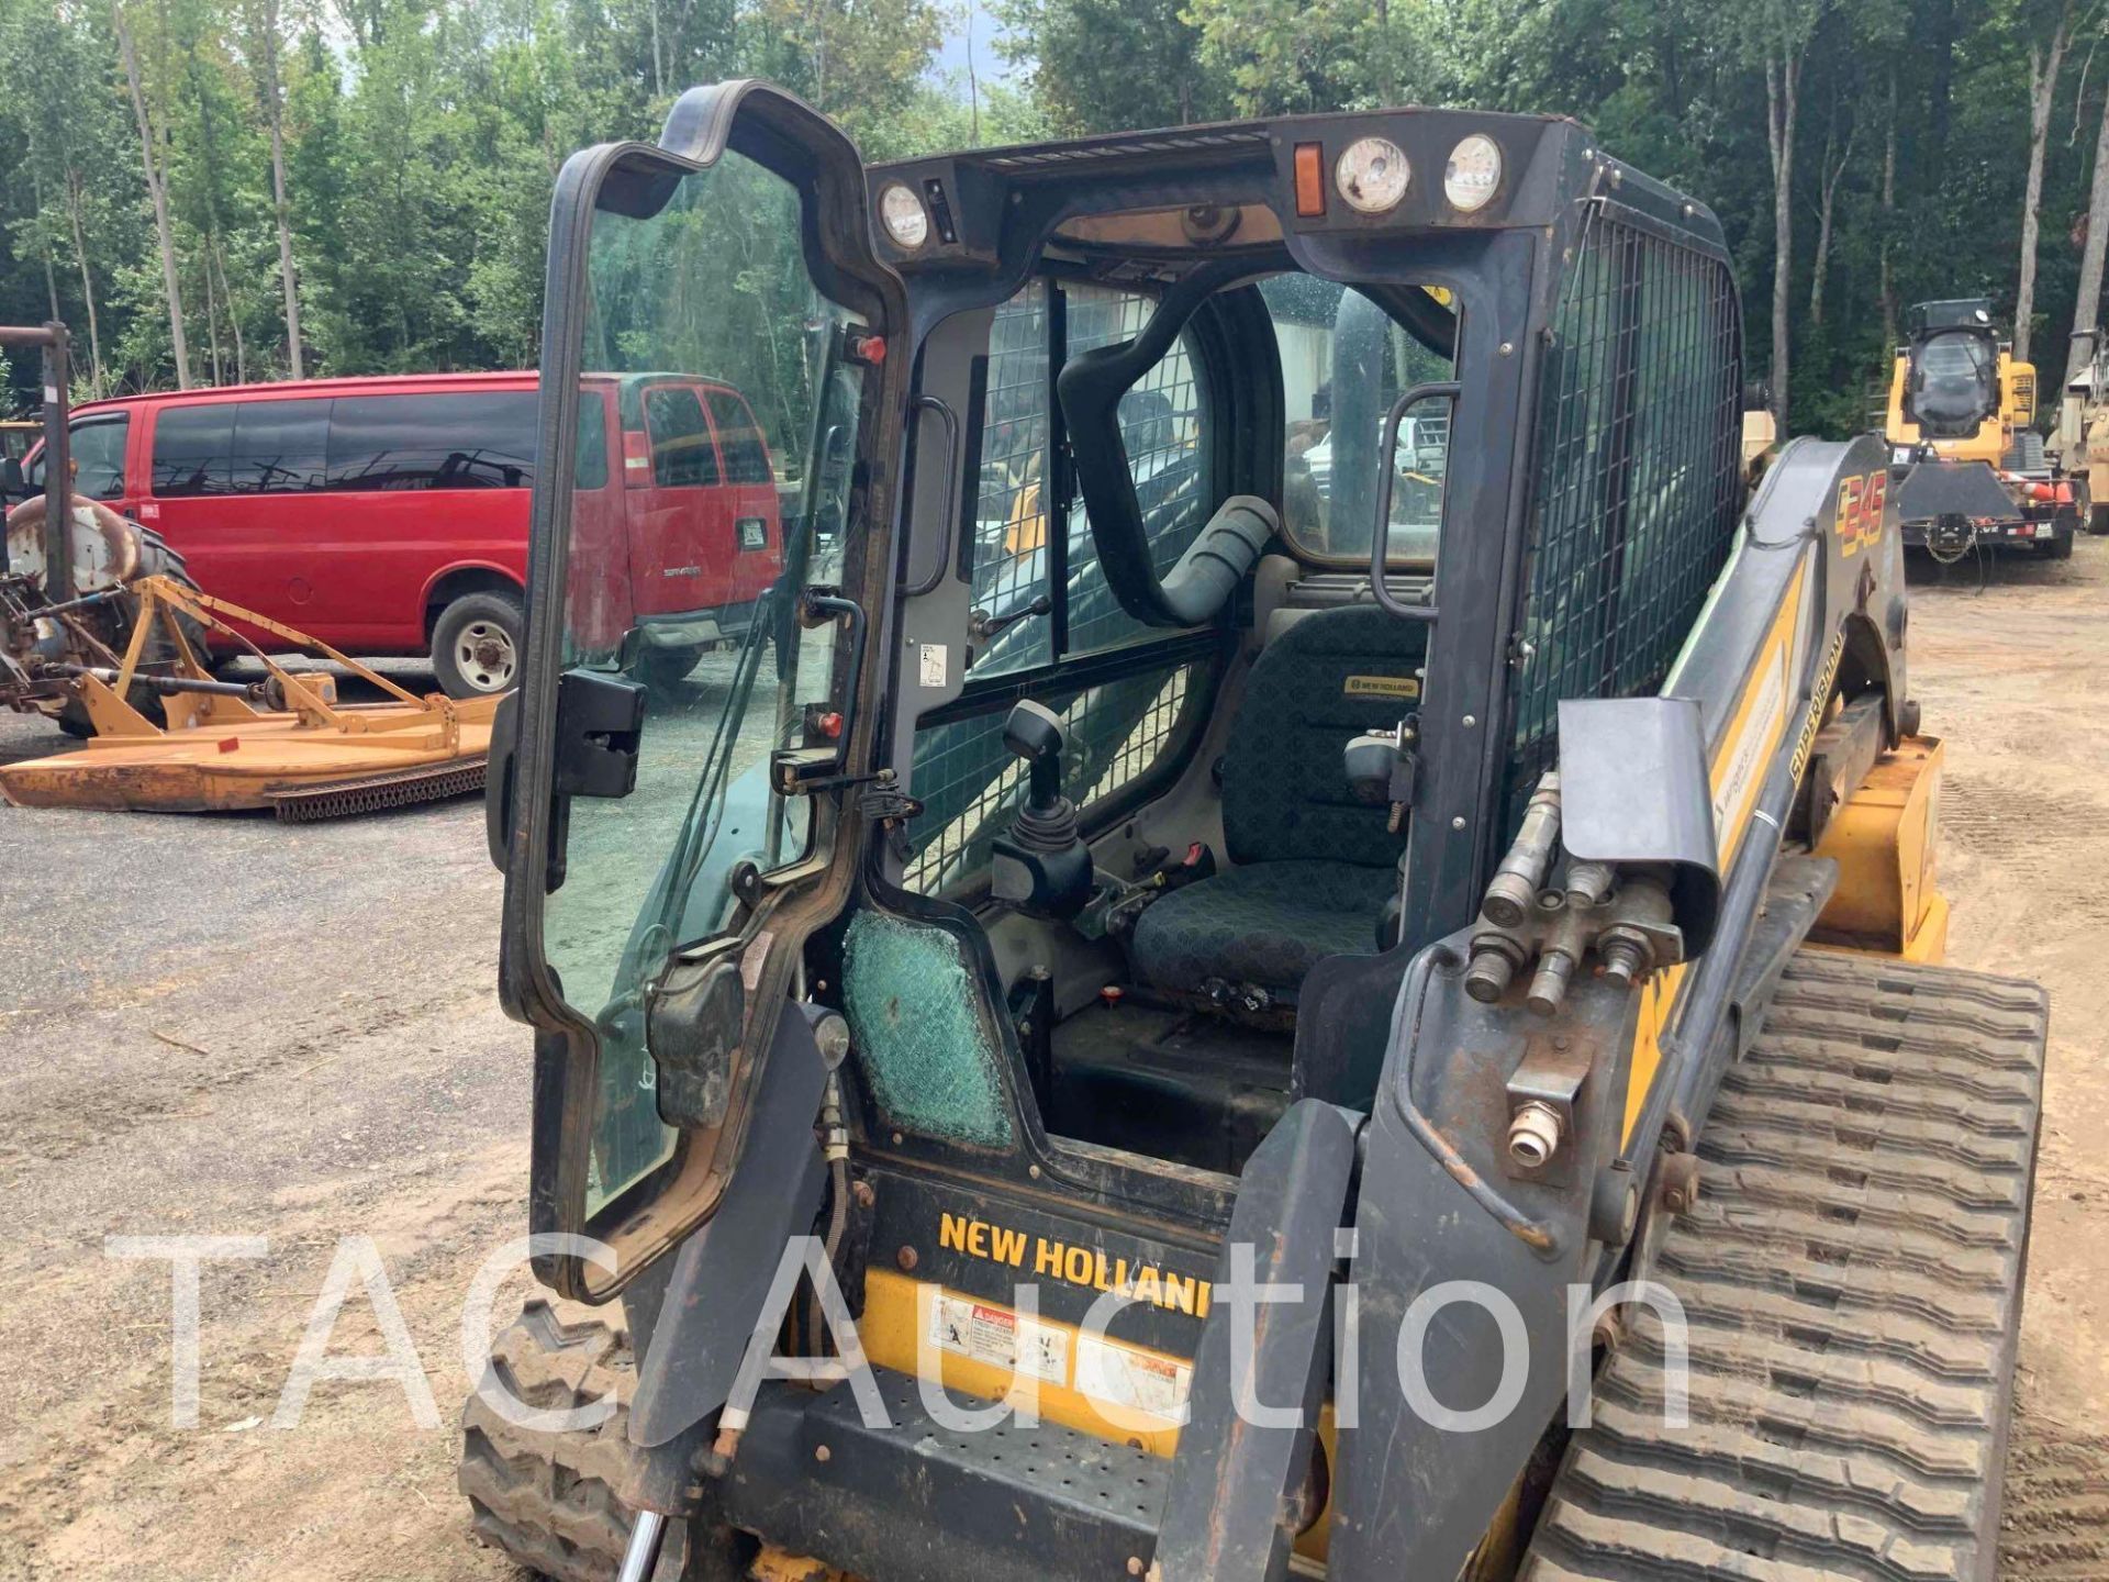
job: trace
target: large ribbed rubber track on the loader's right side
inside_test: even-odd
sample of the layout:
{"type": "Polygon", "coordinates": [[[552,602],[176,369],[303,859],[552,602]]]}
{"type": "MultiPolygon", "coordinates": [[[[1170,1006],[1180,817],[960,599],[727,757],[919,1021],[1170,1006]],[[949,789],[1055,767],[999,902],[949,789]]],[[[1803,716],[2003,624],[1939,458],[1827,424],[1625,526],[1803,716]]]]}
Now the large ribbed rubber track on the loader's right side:
{"type": "Polygon", "coordinates": [[[1651,1310],[1597,1377],[1523,1582],[1961,1582],[1997,1563],[2048,1006],[1801,951],[1700,1137],[1651,1310]]]}

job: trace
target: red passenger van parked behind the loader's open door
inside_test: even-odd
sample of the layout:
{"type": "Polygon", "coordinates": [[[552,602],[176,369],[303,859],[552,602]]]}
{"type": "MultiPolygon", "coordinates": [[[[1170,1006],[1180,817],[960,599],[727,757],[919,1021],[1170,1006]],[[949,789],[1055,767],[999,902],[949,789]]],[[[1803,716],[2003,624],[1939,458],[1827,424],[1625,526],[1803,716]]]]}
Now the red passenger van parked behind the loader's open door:
{"type": "MultiPolygon", "coordinates": [[[[158,529],[211,595],[346,654],[430,654],[458,698],[519,677],[531,371],[97,401],[72,454],[80,494],[158,529]]],[[[588,373],[578,496],[574,555],[628,578],[591,578],[574,639],[607,654],[635,629],[647,679],[740,635],[782,572],[770,449],[728,384],[588,373]]]]}

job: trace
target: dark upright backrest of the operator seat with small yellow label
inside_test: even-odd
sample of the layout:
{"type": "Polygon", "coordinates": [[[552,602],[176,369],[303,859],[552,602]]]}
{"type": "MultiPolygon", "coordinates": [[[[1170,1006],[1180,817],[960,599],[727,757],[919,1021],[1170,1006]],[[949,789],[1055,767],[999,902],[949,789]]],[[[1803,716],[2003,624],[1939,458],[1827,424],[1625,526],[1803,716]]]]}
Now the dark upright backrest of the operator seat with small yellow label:
{"type": "Polygon", "coordinates": [[[1324,858],[1388,867],[1405,833],[1356,799],[1348,738],[1419,709],[1428,626],[1375,605],[1320,610],[1268,643],[1223,751],[1223,844],[1232,863],[1324,858]]]}

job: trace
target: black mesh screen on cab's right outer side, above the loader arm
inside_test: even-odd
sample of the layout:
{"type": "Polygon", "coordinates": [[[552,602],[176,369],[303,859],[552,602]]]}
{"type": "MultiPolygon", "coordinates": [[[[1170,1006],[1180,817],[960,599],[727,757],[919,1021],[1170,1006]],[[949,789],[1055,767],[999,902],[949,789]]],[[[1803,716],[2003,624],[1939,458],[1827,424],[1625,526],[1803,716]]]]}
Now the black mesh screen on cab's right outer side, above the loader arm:
{"type": "Polygon", "coordinates": [[[1736,285],[1715,257],[1590,211],[1552,321],[1510,738],[1521,806],[1563,698],[1653,692],[1742,504],[1736,285]]]}

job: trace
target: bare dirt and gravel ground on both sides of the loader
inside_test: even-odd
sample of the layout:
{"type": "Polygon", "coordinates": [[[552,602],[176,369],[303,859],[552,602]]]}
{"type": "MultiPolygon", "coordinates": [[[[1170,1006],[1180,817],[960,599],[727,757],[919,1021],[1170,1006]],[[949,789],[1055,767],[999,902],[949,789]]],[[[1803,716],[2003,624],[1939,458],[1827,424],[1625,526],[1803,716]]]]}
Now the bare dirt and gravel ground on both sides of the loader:
{"type": "MultiPolygon", "coordinates": [[[[1919,586],[1949,742],[1951,960],[2052,993],[2008,1578],[2109,1578],[2109,540],[1919,586]],[[2096,669],[2096,660],[2103,669],[2096,669]]],[[[0,717],[0,757],[53,751],[0,717]]],[[[517,1578],[466,1536],[460,1304],[525,1230],[527,1034],[494,1004],[475,804],[340,825],[0,810],[0,1578],[517,1578]],[[171,1276],[108,1236],[264,1236],[205,1263],[198,1428],[171,1276]],[[274,1428],[342,1238],[371,1236],[437,1403],[321,1382],[274,1428]]],[[[515,1276],[500,1316],[523,1291],[515,1276]]],[[[331,1354],[382,1352],[356,1282],[331,1354]]]]}

